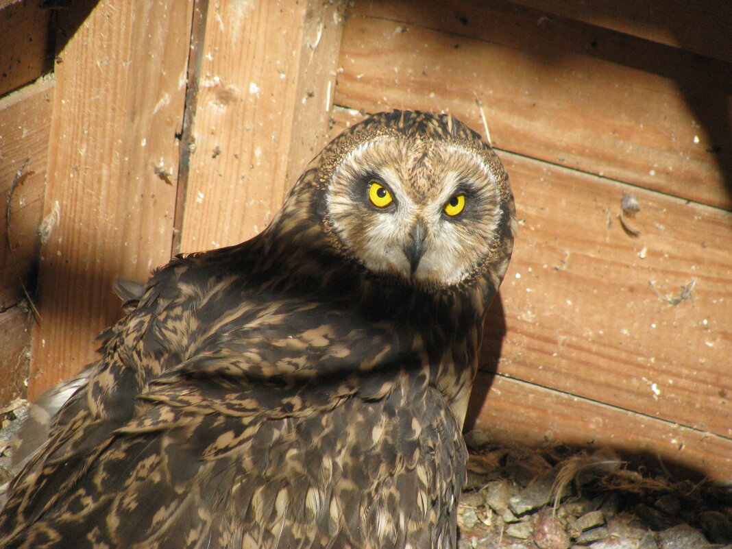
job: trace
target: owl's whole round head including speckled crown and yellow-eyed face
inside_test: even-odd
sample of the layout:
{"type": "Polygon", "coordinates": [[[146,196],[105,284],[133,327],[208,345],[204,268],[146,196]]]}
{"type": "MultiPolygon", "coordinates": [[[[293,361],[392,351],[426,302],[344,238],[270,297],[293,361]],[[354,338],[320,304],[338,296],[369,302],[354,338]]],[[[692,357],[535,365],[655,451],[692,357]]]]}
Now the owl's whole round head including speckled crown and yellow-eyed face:
{"type": "Polygon", "coordinates": [[[314,217],[370,272],[432,288],[486,272],[500,283],[515,230],[508,177],[493,149],[452,116],[370,116],[303,178],[314,217]]]}

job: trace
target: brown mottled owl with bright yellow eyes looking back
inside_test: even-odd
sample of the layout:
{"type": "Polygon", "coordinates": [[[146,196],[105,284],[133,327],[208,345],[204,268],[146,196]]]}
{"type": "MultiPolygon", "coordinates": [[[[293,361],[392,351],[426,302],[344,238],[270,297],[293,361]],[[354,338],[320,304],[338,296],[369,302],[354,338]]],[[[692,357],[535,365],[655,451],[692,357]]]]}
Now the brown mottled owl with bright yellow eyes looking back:
{"type": "Polygon", "coordinates": [[[461,427],[515,212],[444,114],[378,113],[264,232],[179,255],[12,480],[10,548],[455,548],[461,427]]]}

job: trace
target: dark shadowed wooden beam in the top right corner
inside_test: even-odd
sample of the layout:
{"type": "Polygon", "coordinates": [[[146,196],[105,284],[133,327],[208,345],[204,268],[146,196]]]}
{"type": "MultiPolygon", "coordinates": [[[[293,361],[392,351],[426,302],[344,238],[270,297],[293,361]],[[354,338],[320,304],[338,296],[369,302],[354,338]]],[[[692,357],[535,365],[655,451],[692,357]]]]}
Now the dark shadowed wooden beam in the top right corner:
{"type": "Polygon", "coordinates": [[[512,0],[607,29],[732,62],[732,3],[718,0],[512,0]]]}

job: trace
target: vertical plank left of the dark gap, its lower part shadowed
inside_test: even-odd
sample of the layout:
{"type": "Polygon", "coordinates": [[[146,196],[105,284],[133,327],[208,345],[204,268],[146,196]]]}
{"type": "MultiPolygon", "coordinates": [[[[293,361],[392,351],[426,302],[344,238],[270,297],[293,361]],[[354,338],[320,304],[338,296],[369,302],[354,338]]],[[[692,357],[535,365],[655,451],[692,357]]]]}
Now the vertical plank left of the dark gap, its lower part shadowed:
{"type": "Polygon", "coordinates": [[[191,0],[105,0],[67,31],[31,398],[95,358],[91,335],[121,314],[113,279],[145,279],[170,258],[191,15],[191,0]]]}

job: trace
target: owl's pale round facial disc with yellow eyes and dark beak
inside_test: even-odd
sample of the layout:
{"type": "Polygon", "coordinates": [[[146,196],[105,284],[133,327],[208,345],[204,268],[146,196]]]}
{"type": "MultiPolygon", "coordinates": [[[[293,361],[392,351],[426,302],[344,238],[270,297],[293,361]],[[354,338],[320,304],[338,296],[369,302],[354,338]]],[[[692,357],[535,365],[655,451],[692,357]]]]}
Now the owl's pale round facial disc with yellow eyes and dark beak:
{"type": "Polygon", "coordinates": [[[501,217],[488,164],[441,141],[367,141],[337,165],[326,201],[337,237],[367,269],[440,286],[474,272],[501,217]]]}

